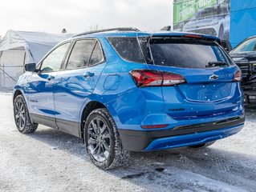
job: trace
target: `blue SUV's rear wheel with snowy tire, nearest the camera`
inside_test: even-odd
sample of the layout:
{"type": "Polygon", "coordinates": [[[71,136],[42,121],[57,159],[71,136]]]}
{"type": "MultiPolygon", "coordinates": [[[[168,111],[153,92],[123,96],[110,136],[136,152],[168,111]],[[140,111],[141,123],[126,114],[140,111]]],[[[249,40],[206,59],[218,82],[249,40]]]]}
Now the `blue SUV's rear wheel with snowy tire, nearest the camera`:
{"type": "Polygon", "coordinates": [[[116,123],[107,109],[93,110],[87,117],[83,138],[91,162],[102,170],[121,166],[128,159],[124,151],[116,123]]]}

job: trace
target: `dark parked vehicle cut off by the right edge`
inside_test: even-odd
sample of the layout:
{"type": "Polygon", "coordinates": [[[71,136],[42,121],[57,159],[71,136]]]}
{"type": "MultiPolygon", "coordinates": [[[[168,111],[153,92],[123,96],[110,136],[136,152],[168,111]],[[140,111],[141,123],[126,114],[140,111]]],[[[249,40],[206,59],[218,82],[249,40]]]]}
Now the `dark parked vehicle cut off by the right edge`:
{"type": "Polygon", "coordinates": [[[242,70],[242,90],[246,105],[256,104],[256,36],[246,38],[230,52],[242,70]]]}

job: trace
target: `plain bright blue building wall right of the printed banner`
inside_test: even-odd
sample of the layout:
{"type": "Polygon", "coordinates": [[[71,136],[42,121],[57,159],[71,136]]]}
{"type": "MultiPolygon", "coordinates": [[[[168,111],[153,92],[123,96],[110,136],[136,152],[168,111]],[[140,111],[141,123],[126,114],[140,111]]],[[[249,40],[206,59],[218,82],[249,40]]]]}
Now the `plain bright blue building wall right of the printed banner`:
{"type": "Polygon", "coordinates": [[[256,35],[256,0],[231,0],[230,42],[237,46],[245,38],[256,35]]]}

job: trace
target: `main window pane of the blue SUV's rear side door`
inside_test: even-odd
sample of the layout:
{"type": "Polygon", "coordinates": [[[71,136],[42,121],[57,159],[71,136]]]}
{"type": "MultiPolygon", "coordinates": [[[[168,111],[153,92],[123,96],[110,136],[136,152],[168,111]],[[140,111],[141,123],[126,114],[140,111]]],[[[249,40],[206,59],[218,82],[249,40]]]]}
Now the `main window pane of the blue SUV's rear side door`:
{"type": "Polygon", "coordinates": [[[91,52],[95,47],[95,40],[79,40],[75,42],[75,46],[71,51],[71,55],[67,62],[67,69],[76,69],[87,66],[91,58],[91,52]]]}

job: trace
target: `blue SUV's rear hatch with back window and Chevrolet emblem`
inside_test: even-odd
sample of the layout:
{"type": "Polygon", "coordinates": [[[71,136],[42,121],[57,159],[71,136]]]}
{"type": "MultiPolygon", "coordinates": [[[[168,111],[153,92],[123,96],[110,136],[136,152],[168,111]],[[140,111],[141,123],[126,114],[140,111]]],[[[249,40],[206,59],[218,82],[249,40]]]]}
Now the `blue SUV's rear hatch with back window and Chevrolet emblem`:
{"type": "Polygon", "coordinates": [[[165,111],[173,118],[200,118],[232,113],[240,104],[241,75],[230,57],[214,39],[201,36],[152,37],[149,49],[153,65],[181,75],[185,82],[162,86],[165,111]]]}

